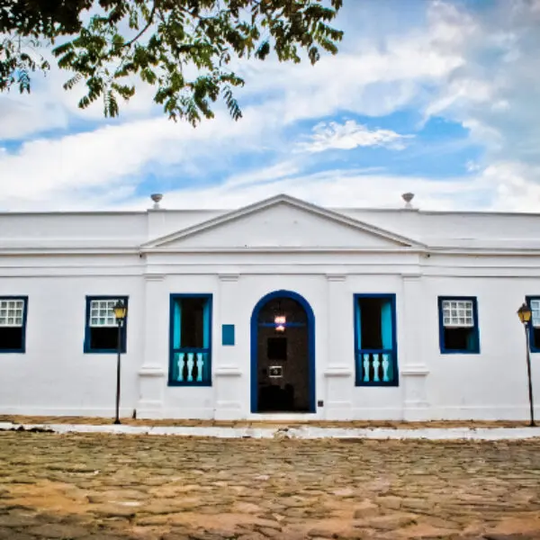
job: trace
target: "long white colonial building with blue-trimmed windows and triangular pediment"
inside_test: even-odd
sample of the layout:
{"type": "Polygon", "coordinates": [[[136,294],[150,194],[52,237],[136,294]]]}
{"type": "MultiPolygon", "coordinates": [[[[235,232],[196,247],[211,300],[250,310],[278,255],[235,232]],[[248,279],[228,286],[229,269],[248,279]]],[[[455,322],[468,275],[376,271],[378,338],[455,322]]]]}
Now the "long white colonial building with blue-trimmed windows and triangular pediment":
{"type": "MultiPolygon", "coordinates": [[[[157,198],[157,197],[156,197],[157,198]]],[[[409,206],[409,205],[407,205],[409,206]]],[[[527,419],[540,214],[0,214],[0,414],[527,419]]]]}

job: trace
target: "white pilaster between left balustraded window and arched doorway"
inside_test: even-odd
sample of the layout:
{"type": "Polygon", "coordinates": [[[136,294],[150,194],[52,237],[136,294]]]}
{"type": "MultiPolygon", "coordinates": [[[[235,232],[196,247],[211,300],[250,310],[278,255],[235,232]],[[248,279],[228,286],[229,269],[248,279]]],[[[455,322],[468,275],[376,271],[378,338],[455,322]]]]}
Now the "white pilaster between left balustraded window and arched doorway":
{"type": "MultiPolygon", "coordinates": [[[[249,408],[249,384],[242,377],[238,361],[238,340],[249,339],[239,335],[238,329],[238,275],[220,274],[220,305],[218,313],[218,332],[214,339],[213,375],[215,386],[215,418],[220,420],[239,419],[245,417],[249,408]],[[222,345],[221,326],[232,324],[235,328],[235,343],[233,346],[222,345]],[[244,383],[246,388],[242,389],[244,383]],[[242,390],[244,392],[242,392],[242,390]]],[[[245,326],[245,325],[244,325],[245,326]]]]}

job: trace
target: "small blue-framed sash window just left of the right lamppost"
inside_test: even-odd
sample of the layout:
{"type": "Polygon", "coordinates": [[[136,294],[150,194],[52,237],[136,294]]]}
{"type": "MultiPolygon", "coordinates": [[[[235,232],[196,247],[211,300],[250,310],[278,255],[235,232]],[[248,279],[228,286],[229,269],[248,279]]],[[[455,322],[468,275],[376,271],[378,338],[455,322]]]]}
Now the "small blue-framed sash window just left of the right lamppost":
{"type": "Polygon", "coordinates": [[[443,355],[478,355],[480,331],[475,296],[439,296],[439,346],[443,355]]]}

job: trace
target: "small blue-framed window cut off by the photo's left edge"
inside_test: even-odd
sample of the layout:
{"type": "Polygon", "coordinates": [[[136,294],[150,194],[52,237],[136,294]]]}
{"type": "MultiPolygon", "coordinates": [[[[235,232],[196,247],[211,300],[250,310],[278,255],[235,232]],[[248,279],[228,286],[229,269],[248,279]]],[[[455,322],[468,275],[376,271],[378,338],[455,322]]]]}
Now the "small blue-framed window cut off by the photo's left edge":
{"type": "Polygon", "coordinates": [[[28,296],[0,297],[0,353],[26,352],[28,296]]]}

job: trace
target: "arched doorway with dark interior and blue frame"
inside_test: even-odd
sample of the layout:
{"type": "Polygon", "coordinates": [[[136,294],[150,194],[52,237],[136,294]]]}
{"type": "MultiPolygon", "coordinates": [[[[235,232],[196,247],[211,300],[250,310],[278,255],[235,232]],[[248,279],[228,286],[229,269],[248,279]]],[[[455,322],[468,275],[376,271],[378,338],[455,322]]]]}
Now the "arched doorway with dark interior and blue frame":
{"type": "Polygon", "coordinates": [[[315,318],[298,293],[266,294],[251,315],[251,412],[315,412],[315,318]]]}

